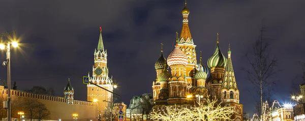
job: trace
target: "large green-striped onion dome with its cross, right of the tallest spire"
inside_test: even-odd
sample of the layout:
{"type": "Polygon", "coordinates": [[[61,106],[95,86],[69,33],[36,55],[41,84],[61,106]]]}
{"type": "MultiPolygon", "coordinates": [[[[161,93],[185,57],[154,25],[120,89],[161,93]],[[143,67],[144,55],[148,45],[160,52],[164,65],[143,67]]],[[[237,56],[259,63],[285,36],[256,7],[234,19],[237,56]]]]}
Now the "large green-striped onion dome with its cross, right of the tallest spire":
{"type": "Polygon", "coordinates": [[[208,58],[207,66],[209,68],[214,67],[226,67],[227,58],[223,55],[223,53],[220,51],[219,48],[219,39],[218,39],[218,33],[217,33],[217,45],[214,51],[214,54],[208,58]]]}

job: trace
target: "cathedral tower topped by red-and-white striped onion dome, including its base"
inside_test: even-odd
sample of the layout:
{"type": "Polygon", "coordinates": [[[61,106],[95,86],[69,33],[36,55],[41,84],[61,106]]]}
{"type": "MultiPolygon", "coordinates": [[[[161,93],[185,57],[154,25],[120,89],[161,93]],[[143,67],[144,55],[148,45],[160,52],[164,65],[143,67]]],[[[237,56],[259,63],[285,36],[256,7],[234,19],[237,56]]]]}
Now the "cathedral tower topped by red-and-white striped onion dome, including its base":
{"type": "Polygon", "coordinates": [[[167,64],[170,67],[171,79],[169,81],[168,104],[185,104],[187,97],[186,66],[187,56],[179,49],[178,33],[175,49],[169,54],[167,64]]]}

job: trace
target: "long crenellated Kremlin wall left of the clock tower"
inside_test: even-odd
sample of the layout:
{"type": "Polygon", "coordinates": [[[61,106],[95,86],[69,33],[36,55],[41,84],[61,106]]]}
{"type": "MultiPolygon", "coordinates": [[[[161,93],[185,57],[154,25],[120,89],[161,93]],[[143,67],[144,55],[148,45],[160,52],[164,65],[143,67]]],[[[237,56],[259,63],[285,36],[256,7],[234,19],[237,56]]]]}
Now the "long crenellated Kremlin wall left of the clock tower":
{"type": "MultiPolygon", "coordinates": [[[[7,98],[8,90],[4,86],[0,86],[0,96],[7,98]]],[[[73,120],[73,113],[78,114],[77,120],[97,120],[98,108],[96,103],[87,101],[72,100],[71,104],[68,103],[68,99],[64,97],[49,96],[49,95],[38,95],[32,93],[26,93],[21,90],[11,89],[12,103],[14,99],[18,97],[21,99],[37,99],[39,102],[45,104],[47,109],[50,111],[49,120],[73,120]]],[[[19,99],[20,100],[20,99],[19,99]]],[[[1,102],[3,103],[3,102],[1,102]]],[[[3,107],[1,107],[3,108],[3,107]]],[[[12,107],[14,108],[14,107],[12,107]]],[[[14,113],[14,112],[12,112],[14,113]]],[[[26,112],[24,112],[26,114],[26,112]]],[[[18,117],[12,117],[18,118],[18,117]]],[[[25,115],[25,118],[26,115],[25,115]]],[[[2,119],[0,119],[2,120],[2,119]]]]}

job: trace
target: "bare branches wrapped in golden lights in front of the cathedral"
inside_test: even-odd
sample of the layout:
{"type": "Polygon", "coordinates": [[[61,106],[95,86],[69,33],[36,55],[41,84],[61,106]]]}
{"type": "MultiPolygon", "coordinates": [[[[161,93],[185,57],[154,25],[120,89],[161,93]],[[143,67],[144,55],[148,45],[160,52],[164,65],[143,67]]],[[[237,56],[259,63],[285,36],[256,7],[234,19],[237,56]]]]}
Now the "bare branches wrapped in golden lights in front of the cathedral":
{"type": "Polygon", "coordinates": [[[218,103],[218,100],[206,99],[206,101],[194,107],[164,106],[163,109],[154,109],[148,117],[152,120],[230,120],[233,106],[218,103]]]}

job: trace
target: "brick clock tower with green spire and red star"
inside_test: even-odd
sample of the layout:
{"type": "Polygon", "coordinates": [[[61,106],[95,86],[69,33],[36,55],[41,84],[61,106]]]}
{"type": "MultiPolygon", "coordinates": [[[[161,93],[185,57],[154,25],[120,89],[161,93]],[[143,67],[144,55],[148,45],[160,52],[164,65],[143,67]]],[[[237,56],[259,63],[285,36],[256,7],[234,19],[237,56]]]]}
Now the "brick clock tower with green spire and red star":
{"type": "MultiPolygon", "coordinates": [[[[92,77],[90,77],[88,74],[88,77],[90,78],[89,81],[112,92],[113,81],[112,78],[109,78],[108,76],[107,50],[104,48],[103,44],[102,27],[100,27],[98,47],[94,52],[94,65],[92,71],[92,77]]],[[[112,94],[93,84],[87,84],[87,101],[93,102],[94,100],[97,100],[97,103],[100,105],[101,109],[105,109],[107,107],[106,101],[112,101],[112,94]]]]}

